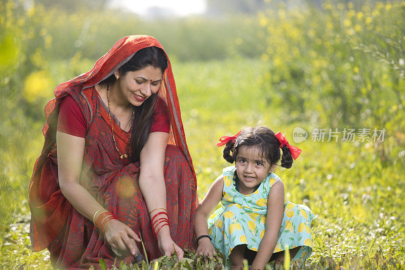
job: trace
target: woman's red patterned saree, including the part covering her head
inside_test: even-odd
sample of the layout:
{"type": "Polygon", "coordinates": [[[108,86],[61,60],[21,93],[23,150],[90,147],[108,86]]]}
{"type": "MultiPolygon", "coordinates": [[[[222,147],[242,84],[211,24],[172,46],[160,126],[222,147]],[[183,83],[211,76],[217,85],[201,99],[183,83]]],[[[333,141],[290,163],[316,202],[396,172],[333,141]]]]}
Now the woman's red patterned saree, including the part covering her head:
{"type": "MultiPolygon", "coordinates": [[[[111,247],[93,221],[78,213],[62,195],[58,186],[56,127],[59,104],[70,95],[83,112],[87,133],[80,176],[82,184],[96,200],[143,239],[149,259],[161,256],[153,236],[149,214],[139,185],[139,162],[120,160],[114,149],[108,112],[100,105],[94,85],[111,75],[138,50],[150,46],[162,48],[151,36],[121,38],[93,69],[59,85],[55,98],[45,107],[44,148],[35,162],[29,188],[31,210],[31,243],[33,251],[48,248],[51,261],[58,268],[99,267],[103,258],[114,263],[111,247]]],[[[162,48],[163,49],[163,48],[162,48]]],[[[185,140],[170,61],[164,74],[159,96],[167,102],[171,114],[170,141],[164,165],[170,232],[173,241],[183,249],[193,250],[194,214],[198,205],[196,178],[185,140]]],[[[114,133],[121,151],[125,151],[129,134],[115,122],[114,133]]],[[[142,250],[141,244],[138,248],[142,250]]],[[[130,262],[133,257],[119,258],[130,262]]]]}

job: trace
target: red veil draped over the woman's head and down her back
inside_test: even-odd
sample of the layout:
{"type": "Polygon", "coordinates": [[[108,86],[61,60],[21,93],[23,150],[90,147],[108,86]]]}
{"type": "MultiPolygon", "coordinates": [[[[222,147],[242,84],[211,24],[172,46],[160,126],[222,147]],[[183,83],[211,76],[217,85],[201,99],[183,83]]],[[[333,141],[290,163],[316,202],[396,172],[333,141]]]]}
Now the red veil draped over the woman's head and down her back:
{"type": "MultiPolygon", "coordinates": [[[[43,170],[43,167],[47,158],[56,157],[56,128],[61,100],[67,95],[80,96],[82,99],[86,99],[86,94],[83,94],[83,92],[108,78],[109,75],[130,60],[138,50],[151,46],[163,49],[161,44],[151,36],[131,35],[123,37],[104,56],[97,60],[90,71],[55,88],[55,98],[45,106],[46,123],[43,128],[45,143],[41,155],[35,162],[29,187],[28,202],[31,210],[30,234],[33,251],[46,248],[55,239],[63,228],[66,221],[64,217],[67,217],[71,207],[67,200],[61,200],[61,197],[63,199],[64,197],[56,181],[55,183],[41,182],[42,179],[47,178],[47,175],[57,173],[52,169],[43,170]]],[[[163,84],[161,84],[158,94],[167,102],[171,115],[169,144],[177,145],[182,150],[191,167],[196,184],[195,172],[181,121],[172,66],[168,56],[167,59],[168,67],[163,75],[163,84]]],[[[84,106],[83,104],[78,105],[79,107],[84,106]]],[[[89,108],[86,109],[89,110],[89,108]]],[[[94,108],[90,108],[89,113],[85,115],[88,125],[91,123],[93,116],[94,108]]]]}

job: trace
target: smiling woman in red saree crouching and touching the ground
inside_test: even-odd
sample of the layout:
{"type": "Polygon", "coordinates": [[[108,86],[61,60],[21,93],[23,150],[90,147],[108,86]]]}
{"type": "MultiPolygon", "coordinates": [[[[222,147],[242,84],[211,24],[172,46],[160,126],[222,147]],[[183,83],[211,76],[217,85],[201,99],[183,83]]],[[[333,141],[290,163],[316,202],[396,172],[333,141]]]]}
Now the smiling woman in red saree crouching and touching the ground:
{"type": "Polygon", "coordinates": [[[121,38],[59,85],[45,111],[29,190],[34,251],[47,247],[58,268],[88,268],[142,259],[140,237],[149,259],[194,249],[195,173],[155,38],[121,38]]]}

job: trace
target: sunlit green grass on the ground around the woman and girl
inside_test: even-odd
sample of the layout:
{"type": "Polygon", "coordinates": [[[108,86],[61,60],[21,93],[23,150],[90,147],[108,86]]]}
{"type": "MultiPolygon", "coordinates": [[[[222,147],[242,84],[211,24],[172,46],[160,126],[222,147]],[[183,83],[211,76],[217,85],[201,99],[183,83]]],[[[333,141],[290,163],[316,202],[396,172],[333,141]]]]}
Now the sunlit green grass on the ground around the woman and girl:
{"type": "MultiPolygon", "coordinates": [[[[263,75],[268,69],[259,60],[175,62],[173,70],[200,200],[222,168],[229,165],[222,159],[222,148],[215,146],[220,136],[257,121],[275,132],[286,132],[290,141],[294,127],[307,131],[329,128],[310,120],[292,120],[281,104],[269,107],[263,98],[263,75]]],[[[5,148],[10,150],[0,151],[1,218],[7,224],[18,223],[1,232],[3,268],[51,267],[48,252],[31,252],[27,226],[27,188],[43,143],[41,124],[26,123],[21,134],[14,136],[10,130],[5,148]]],[[[316,216],[311,226],[313,253],[305,268],[405,269],[403,157],[383,162],[380,146],[373,143],[312,142],[309,136],[305,142],[292,144],[300,147],[302,154],[291,169],[279,167],[276,173],[284,182],[286,200],[307,205],[316,216]]],[[[204,267],[200,259],[192,255],[189,259],[194,268],[204,267]]],[[[174,259],[167,257],[158,263],[159,268],[164,264],[179,268],[181,264],[175,266],[174,259]]]]}

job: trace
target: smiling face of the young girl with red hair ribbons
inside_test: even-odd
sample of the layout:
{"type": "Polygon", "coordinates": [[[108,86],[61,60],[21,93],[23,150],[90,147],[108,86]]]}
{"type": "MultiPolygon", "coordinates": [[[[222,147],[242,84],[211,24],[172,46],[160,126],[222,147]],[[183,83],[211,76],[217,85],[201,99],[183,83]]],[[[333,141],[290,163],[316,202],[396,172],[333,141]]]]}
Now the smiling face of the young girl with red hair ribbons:
{"type": "Polygon", "coordinates": [[[270,164],[254,146],[240,146],[236,156],[236,173],[241,194],[249,195],[271,172],[270,164]]]}

